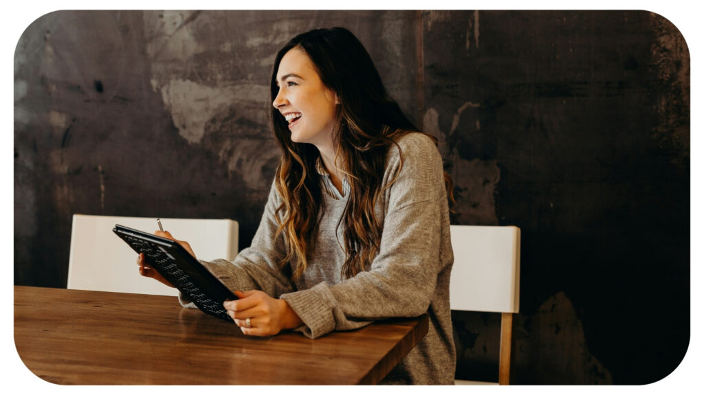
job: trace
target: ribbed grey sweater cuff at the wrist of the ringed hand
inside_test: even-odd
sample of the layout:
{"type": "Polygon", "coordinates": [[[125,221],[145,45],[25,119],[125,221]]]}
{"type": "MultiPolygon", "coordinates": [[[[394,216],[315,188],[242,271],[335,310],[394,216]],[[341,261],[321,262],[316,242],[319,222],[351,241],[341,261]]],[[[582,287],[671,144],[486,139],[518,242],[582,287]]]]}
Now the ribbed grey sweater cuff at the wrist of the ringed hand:
{"type": "Polygon", "coordinates": [[[295,330],[303,332],[306,337],[315,339],[335,330],[332,306],[325,303],[326,299],[332,299],[332,292],[325,283],[308,290],[282,294],[281,299],[286,301],[303,321],[303,326],[295,330]]]}

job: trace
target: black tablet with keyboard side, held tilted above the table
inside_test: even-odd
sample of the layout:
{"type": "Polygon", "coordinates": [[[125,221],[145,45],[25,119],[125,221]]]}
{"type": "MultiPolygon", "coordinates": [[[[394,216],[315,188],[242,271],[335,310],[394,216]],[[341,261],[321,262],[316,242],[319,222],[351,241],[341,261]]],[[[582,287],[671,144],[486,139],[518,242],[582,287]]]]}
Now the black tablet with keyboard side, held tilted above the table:
{"type": "Polygon", "coordinates": [[[222,302],[237,297],[179,243],[117,224],[113,232],[132,250],[144,254],[149,264],[201,311],[232,321],[222,302]]]}

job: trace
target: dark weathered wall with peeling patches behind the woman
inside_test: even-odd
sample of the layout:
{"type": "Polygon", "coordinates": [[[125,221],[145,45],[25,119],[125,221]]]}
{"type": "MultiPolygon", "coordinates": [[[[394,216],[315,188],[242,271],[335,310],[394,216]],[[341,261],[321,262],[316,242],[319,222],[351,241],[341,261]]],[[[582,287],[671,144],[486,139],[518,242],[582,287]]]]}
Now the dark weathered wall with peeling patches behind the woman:
{"type": "MultiPolygon", "coordinates": [[[[660,380],[689,343],[689,52],[641,11],[61,11],[15,53],[15,284],[64,287],[71,215],[237,219],[277,163],[267,84],[342,25],[441,142],[453,223],[522,229],[513,381],[660,380]]],[[[499,317],[453,312],[457,377],[499,317]]]]}

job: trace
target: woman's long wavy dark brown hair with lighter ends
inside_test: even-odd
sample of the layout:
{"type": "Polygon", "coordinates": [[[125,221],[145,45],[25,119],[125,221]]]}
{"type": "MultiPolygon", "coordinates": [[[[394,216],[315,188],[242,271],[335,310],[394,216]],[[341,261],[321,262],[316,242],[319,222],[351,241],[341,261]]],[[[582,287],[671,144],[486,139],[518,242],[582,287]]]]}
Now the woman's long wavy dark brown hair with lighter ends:
{"type": "MultiPolygon", "coordinates": [[[[337,147],[335,163],[341,164],[350,193],[338,223],[344,226],[345,247],[345,263],[340,274],[341,278],[351,278],[364,271],[379,252],[383,224],[375,215],[375,206],[384,192],[382,177],[386,154],[392,145],[400,152],[396,141],[419,130],[386,92],[362,43],[343,27],[298,34],[279,50],[272,70],[270,103],[279,91],[276,83],[279,63],[292,48],[306,52],[322,83],[337,93],[341,101],[333,130],[337,147]]],[[[315,248],[318,221],[325,211],[322,181],[315,170],[320,153],[315,145],[291,141],[286,119],[271,106],[270,124],[282,150],[275,179],[283,200],[276,211],[277,237],[283,233],[287,245],[281,264],[297,261],[293,275],[298,278],[306,270],[308,255],[315,248]]],[[[436,138],[430,137],[437,144],[436,138]]],[[[447,173],[445,186],[448,197],[453,200],[452,181],[447,173]]]]}

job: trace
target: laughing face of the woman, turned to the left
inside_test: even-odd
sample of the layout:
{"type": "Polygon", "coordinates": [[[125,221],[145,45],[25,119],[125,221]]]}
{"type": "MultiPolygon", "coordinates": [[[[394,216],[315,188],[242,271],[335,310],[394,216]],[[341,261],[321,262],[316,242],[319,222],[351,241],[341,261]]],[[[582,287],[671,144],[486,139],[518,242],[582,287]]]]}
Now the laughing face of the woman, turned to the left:
{"type": "Polygon", "coordinates": [[[337,119],[337,95],[327,88],[306,52],[292,48],[279,63],[276,75],[279,93],[274,107],[291,131],[291,140],[320,148],[332,145],[332,129],[337,119]]]}

